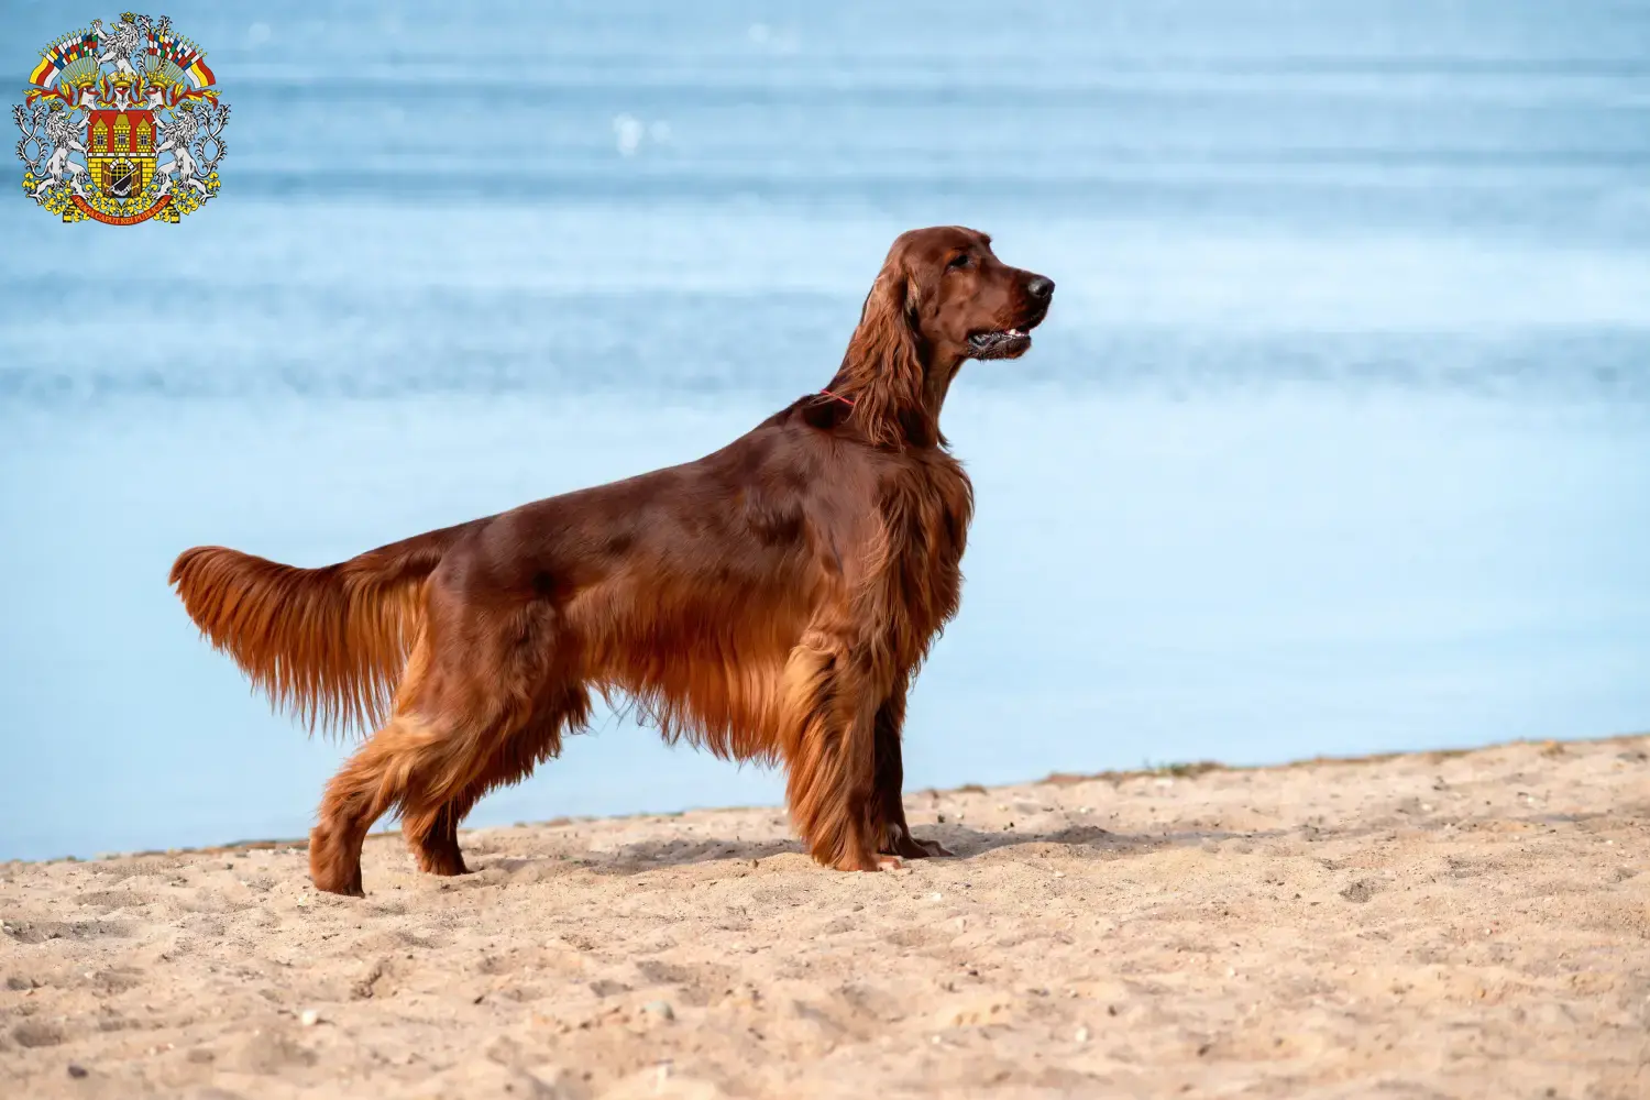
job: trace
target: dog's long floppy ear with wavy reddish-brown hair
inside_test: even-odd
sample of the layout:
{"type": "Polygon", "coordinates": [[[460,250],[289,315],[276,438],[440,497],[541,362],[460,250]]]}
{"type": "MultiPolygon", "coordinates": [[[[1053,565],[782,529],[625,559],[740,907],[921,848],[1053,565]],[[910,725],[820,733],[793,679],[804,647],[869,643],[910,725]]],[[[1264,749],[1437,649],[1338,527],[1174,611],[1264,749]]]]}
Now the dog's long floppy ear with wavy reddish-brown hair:
{"type": "Polygon", "coordinates": [[[916,308],[917,289],[901,257],[889,256],[865,295],[860,327],[833,383],[853,397],[851,419],[878,444],[899,445],[911,427],[927,421],[916,308]]]}

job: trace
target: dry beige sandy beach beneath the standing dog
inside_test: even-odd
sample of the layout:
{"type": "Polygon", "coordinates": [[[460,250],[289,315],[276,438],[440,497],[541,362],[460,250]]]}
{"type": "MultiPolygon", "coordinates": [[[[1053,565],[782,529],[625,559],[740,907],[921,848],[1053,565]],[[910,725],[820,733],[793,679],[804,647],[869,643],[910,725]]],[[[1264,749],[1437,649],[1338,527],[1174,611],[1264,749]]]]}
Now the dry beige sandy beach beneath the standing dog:
{"type": "Polygon", "coordinates": [[[12,1097],[1650,1097],[1650,739],[0,864],[12,1097]]]}

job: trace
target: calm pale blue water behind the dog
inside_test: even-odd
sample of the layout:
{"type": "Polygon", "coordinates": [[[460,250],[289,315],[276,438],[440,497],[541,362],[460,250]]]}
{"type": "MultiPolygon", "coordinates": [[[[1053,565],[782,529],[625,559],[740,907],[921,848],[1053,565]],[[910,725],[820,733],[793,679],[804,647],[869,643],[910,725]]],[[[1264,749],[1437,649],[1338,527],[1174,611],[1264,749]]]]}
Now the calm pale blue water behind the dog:
{"type": "MultiPolygon", "coordinates": [[[[698,457],[934,223],[1059,290],[945,411],[909,787],[1650,727],[1650,5],[167,10],[221,196],[0,201],[0,858],[309,826],[346,747],[196,638],[180,549],[698,457]]],[[[63,12],[3,8],[16,87],[63,12]]],[[[607,716],[472,823],[779,797],[607,716]]]]}

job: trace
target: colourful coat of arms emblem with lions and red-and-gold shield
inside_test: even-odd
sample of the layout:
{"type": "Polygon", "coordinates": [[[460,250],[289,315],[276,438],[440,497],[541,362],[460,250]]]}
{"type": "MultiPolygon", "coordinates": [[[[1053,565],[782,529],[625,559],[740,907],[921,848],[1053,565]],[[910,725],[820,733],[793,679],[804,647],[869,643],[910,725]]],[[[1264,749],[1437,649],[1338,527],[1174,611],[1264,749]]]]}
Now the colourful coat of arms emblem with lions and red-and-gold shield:
{"type": "Polygon", "coordinates": [[[177,223],[218,195],[223,127],[205,51],[162,15],[51,41],[12,117],[23,193],[63,221],[177,223]]]}

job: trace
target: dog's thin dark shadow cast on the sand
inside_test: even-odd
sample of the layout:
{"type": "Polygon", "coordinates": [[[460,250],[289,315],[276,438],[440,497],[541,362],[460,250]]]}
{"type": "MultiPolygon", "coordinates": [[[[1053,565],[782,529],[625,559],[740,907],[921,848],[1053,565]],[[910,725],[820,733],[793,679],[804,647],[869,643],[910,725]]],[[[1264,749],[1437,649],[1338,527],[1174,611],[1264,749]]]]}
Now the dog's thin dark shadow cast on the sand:
{"type": "MultiPolygon", "coordinates": [[[[1219,843],[1224,839],[1261,839],[1266,833],[1229,833],[1223,830],[1173,831],[1155,834],[1112,833],[1092,825],[1068,825],[1053,831],[982,831],[964,825],[929,825],[916,830],[921,839],[937,839],[955,861],[974,859],[1005,848],[1053,844],[1086,849],[1072,854],[1091,854],[1096,859],[1115,859],[1163,848],[1219,843]]],[[[667,838],[624,844],[610,851],[589,853],[579,859],[597,874],[630,876],[660,867],[681,867],[706,863],[761,863],[772,856],[807,856],[802,841],[728,839],[728,838],[667,838]]],[[[945,863],[950,863],[947,859],[945,863]]],[[[515,872],[544,863],[538,858],[487,859],[483,867],[515,872]]],[[[908,859],[924,863],[921,859],[908,859]]]]}

